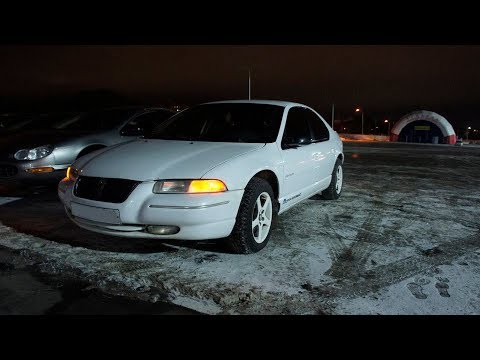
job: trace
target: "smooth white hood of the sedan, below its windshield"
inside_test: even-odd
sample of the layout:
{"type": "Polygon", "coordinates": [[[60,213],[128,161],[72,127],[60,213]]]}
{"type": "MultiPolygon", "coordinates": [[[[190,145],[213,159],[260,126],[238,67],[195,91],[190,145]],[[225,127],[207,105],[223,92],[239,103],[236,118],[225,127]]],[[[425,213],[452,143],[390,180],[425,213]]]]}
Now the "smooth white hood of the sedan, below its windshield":
{"type": "Polygon", "coordinates": [[[198,179],[264,144],[143,139],[105,149],[80,166],[85,176],[137,181],[198,179]]]}

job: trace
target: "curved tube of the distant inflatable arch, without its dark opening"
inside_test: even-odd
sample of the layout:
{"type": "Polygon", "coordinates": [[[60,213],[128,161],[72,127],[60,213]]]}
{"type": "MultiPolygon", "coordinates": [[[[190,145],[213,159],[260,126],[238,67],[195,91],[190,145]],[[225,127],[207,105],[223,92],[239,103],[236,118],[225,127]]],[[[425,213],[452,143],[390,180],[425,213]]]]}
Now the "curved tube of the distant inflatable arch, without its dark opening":
{"type": "Polygon", "coordinates": [[[402,129],[406,125],[419,120],[429,121],[437,125],[442,131],[444,144],[455,144],[457,141],[455,131],[447,119],[445,119],[442,115],[427,110],[414,111],[402,117],[400,121],[398,121],[392,128],[392,131],[390,131],[390,141],[398,141],[398,137],[402,132],[402,129]]]}

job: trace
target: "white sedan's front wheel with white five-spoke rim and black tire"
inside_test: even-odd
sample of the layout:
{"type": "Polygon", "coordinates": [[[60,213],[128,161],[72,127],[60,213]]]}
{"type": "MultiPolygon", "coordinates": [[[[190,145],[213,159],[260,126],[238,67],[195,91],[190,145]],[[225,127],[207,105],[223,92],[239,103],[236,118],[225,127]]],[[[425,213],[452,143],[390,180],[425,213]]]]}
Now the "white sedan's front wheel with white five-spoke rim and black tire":
{"type": "Polygon", "coordinates": [[[272,187],[266,180],[256,177],[250,180],[229,239],[234,253],[251,254],[267,245],[277,216],[274,199],[272,187]]]}

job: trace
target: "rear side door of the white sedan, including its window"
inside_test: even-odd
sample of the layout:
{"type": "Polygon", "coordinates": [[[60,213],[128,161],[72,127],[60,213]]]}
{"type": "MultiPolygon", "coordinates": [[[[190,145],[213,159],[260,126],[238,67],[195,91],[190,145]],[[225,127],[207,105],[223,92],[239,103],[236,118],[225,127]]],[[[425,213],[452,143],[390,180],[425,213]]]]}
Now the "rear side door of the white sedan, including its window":
{"type": "Polygon", "coordinates": [[[314,178],[322,187],[320,190],[323,190],[330,184],[330,175],[336,160],[331,146],[330,131],[324,120],[311,109],[304,108],[303,111],[312,133],[314,178]]]}

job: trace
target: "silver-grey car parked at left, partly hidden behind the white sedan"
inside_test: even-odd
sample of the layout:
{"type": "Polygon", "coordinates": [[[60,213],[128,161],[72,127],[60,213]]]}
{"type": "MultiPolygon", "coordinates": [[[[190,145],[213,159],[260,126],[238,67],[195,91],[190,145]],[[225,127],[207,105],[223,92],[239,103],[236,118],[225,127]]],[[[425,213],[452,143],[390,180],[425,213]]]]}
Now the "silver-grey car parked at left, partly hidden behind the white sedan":
{"type": "Polygon", "coordinates": [[[7,129],[0,140],[0,179],[60,180],[79,157],[149,134],[171,115],[164,108],[129,107],[17,124],[21,131],[7,129]]]}

